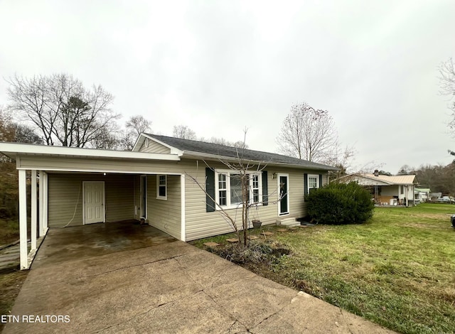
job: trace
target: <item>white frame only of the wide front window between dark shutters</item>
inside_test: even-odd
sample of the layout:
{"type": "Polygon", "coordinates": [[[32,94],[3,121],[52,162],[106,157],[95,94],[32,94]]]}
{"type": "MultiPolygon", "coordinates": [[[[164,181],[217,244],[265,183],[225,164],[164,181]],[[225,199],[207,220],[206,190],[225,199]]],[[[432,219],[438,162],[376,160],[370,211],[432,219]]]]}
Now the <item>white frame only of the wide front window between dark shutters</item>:
{"type": "MultiPolygon", "coordinates": [[[[223,210],[235,209],[235,208],[240,208],[240,206],[242,206],[242,203],[232,204],[231,198],[230,198],[230,179],[231,179],[231,175],[236,175],[236,174],[240,174],[240,172],[232,171],[230,169],[216,169],[215,170],[215,202],[216,203],[218,203],[218,204],[220,203],[220,190],[226,191],[226,205],[218,206],[218,204],[217,204],[217,205],[215,205],[216,210],[221,210],[221,208],[223,208],[223,210]],[[220,187],[219,187],[219,185],[220,185],[219,175],[220,174],[225,174],[225,176],[226,176],[226,188],[225,189],[223,189],[223,188],[220,189],[220,187]]],[[[250,176],[250,180],[249,180],[250,184],[248,185],[248,188],[249,188],[248,193],[250,194],[249,203],[255,204],[255,205],[262,205],[262,172],[252,171],[247,174],[250,176]],[[253,175],[257,175],[257,182],[259,185],[259,188],[255,188],[255,189],[259,190],[259,202],[257,202],[257,203],[252,202],[252,200],[253,200],[253,188],[252,188],[253,178],[251,176],[253,176],[253,175]]]]}

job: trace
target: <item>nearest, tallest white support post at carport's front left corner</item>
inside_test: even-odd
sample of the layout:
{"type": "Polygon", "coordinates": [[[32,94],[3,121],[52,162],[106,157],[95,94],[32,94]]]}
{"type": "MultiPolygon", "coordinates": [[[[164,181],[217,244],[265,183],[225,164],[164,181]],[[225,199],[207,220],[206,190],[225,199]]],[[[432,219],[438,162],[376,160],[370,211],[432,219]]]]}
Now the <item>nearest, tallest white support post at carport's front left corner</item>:
{"type": "Polygon", "coordinates": [[[21,269],[28,269],[27,251],[27,183],[26,171],[18,171],[19,190],[19,249],[21,254],[21,269]]]}

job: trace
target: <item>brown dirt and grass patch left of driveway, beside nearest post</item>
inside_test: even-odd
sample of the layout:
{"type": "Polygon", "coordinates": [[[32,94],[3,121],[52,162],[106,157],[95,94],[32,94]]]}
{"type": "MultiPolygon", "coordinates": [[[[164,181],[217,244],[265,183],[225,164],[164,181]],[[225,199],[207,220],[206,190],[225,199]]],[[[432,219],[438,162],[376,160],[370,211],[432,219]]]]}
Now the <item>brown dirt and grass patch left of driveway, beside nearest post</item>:
{"type": "MultiPolygon", "coordinates": [[[[26,281],[27,274],[28,270],[19,270],[16,267],[0,270],[0,315],[8,315],[11,312],[22,284],[26,281]]],[[[4,323],[0,323],[0,332],[4,325],[4,323]]]]}

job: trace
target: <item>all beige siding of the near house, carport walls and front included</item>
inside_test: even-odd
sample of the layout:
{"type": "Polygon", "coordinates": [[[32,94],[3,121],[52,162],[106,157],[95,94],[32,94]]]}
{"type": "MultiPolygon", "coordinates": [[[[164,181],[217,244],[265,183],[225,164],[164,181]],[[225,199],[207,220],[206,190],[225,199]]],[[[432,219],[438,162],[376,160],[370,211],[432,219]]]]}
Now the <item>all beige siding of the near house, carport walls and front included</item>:
{"type": "MultiPolygon", "coordinates": [[[[87,158],[52,158],[53,168],[80,168],[81,170],[99,171],[99,173],[49,172],[50,227],[65,226],[73,217],[74,212],[75,217],[70,225],[82,225],[82,181],[105,181],[107,221],[139,219],[140,175],[154,174],[147,177],[149,223],[173,237],[181,239],[180,175],[186,174],[186,240],[233,231],[220,212],[206,212],[205,193],[192,181],[191,177],[196,178],[205,189],[206,163],[203,160],[185,158],[182,161],[122,161],[96,158],[87,160],[87,158]],[[114,171],[118,173],[109,174],[114,171]],[[107,176],[103,176],[102,172],[106,172],[107,176]],[[167,200],[156,199],[156,174],[160,173],[168,175],[167,200]]],[[[21,168],[48,171],[48,168],[45,167],[49,165],[48,158],[47,160],[40,156],[21,158],[21,168]]],[[[226,169],[226,166],[219,161],[211,162],[210,166],[226,169]]],[[[266,166],[264,170],[267,171],[268,177],[268,205],[259,205],[257,211],[254,209],[250,211],[250,216],[258,215],[264,225],[274,224],[278,217],[303,217],[305,215],[304,173],[323,174],[323,184],[327,183],[327,173],[323,171],[277,166],[266,166]],[[278,215],[278,181],[277,178],[273,178],[274,173],[289,174],[289,215],[278,215]]],[[[237,224],[240,227],[241,208],[237,209],[237,212],[236,209],[230,209],[228,212],[232,216],[237,215],[237,224]]]]}

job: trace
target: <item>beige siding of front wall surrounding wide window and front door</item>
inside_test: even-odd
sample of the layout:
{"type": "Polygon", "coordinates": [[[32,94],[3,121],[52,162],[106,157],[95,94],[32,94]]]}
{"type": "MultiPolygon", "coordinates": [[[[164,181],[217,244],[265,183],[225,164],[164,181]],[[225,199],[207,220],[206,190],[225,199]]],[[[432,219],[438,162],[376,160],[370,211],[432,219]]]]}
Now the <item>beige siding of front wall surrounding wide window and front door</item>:
{"type": "MultiPolygon", "coordinates": [[[[197,179],[205,189],[205,163],[204,161],[181,161],[185,171],[197,179]]],[[[209,163],[210,167],[226,169],[222,163],[209,163]]],[[[259,205],[257,212],[250,210],[250,217],[258,215],[264,225],[274,224],[278,217],[303,217],[304,207],[304,173],[323,174],[323,184],[327,183],[327,173],[321,171],[308,171],[298,168],[277,168],[270,166],[267,171],[268,205],[259,205]],[[278,215],[278,180],[273,178],[274,173],[289,174],[289,215],[278,215]]],[[[186,178],[186,240],[200,239],[213,235],[233,232],[233,227],[221,216],[220,212],[206,212],[205,193],[191,178],[186,178]]],[[[227,210],[231,217],[237,216],[237,226],[241,227],[242,208],[227,210]],[[237,210],[237,212],[236,212],[237,210]]]]}

